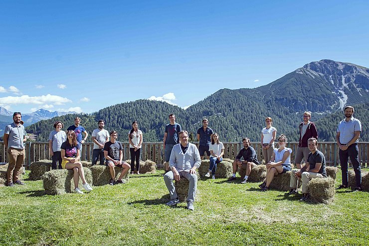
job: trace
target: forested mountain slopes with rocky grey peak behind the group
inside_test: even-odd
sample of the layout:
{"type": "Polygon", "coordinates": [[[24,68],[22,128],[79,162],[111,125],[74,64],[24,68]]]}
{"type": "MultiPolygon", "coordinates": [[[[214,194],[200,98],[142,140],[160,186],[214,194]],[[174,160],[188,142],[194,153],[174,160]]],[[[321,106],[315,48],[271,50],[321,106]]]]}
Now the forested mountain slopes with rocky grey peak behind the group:
{"type": "MultiPolygon", "coordinates": [[[[231,83],[231,81],[229,82],[231,83]]],[[[221,89],[186,110],[163,102],[137,100],[99,110],[92,115],[80,115],[88,132],[104,119],[106,128],[119,132],[121,141],[127,141],[131,123],[136,120],[144,132],[144,141],[162,141],[168,115],[174,113],[177,122],[188,130],[194,139],[203,118],[220,134],[222,141],[239,141],[247,136],[260,140],[265,118],[272,117],[277,134],[285,134],[289,141],[298,140],[298,124],[304,111],[312,112],[311,121],[317,125],[321,140],[335,141],[341,110],[345,105],[358,105],[355,115],[367,125],[369,106],[369,69],[352,63],[321,60],[306,64],[280,79],[254,89],[221,89]],[[337,113],[336,113],[337,112],[337,113]]],[[[39,134],[45,141],[52,123],[57,119],[65,125],[73,124],[75,115],[37,122],[27,132],[39,134]]],[[[369,140],[363,127],[361,141],[369,140]]]]}

